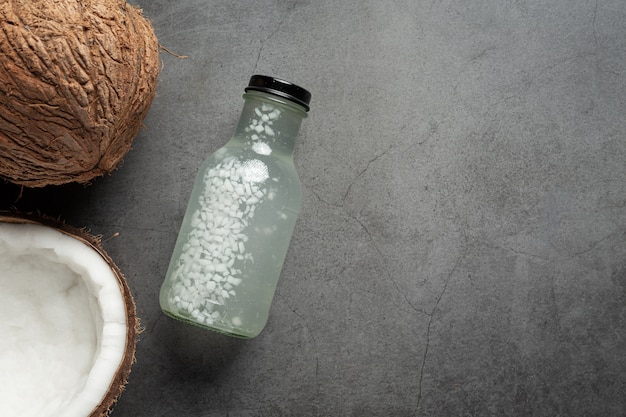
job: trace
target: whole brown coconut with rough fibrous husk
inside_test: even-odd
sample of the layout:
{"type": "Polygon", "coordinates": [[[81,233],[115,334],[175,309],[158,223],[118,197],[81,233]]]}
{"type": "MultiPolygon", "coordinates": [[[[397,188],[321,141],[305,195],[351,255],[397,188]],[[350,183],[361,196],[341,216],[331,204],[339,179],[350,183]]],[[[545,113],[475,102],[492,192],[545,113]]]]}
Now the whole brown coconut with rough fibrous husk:
{"type": "Polygon", "coordinates": [[[124,0],[0,1],[0,177],[88,183],[130,150],[159,45],[124,0]]]}

